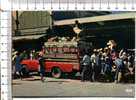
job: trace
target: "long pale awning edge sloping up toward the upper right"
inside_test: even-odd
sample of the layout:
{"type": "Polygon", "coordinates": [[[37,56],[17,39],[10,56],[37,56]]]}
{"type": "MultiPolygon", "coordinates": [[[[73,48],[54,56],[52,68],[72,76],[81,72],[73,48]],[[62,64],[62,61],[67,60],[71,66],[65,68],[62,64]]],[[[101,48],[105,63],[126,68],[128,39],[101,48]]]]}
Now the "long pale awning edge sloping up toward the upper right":
{"type": "Polygon", "coordinates": [[[136,17],[136,12],[127,12],[127,13],[118,13],[118,14],[109,14],[103,16],[74,18],[74,19],[68,19],[62,21],[55,21],[54,25],[71,25],[71,24],[75,24],[76,20],[78,20],[79,23],[90,23],[90,22],[99,22],[99,21],[133,19],[135,17],[136,17]]]}

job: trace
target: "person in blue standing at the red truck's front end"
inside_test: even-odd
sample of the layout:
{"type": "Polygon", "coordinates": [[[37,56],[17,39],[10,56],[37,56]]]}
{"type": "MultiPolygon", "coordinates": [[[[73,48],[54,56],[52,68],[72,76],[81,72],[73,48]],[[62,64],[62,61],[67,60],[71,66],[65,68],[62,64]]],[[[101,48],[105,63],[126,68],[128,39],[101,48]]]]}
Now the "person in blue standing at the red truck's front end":
{"type": "Polygon", "coordinates": [[[17,52],[16,58],[15,58],[15,75],[16,75],[17,73],[19,73],[19,77],[20,77],[21,80],[22,80],[22,78],[23,78],[22,68],[23,68],[23,67],[22,67],[22,65],[21,65],[21,61],[22,61],[22,57],[21,57],[20,53],[17,52]]]}

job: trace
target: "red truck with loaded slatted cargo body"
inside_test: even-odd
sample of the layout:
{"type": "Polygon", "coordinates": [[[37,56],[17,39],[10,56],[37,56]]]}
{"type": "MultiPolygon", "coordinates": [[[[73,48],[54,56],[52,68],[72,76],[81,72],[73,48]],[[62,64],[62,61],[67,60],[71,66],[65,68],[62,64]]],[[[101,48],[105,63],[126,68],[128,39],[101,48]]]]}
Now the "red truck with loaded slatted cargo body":
{"type": "MultiPolygon", "coordinates": [[[[45,71],[55,78],[63,73],[75,74],[80,70],[77,42],[46,42],[45,43],[45,71]]],[[[29,72],[39,71],[37,59],[25,59],[22,66],[29,72]]]]}

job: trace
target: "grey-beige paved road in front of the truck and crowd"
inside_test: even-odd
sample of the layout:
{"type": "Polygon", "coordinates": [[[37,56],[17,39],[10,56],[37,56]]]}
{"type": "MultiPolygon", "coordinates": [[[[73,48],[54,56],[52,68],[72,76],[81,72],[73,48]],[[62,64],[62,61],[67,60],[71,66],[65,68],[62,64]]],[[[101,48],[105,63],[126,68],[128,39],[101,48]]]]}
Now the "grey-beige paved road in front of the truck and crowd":
{"type": "Polygon", "coordinates": [[[35,79],[13,80],[14,97],[60,96],[134,96],[134,84],[80,82],[72,79],[46,78],[42,83],[35,79]]]}

